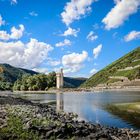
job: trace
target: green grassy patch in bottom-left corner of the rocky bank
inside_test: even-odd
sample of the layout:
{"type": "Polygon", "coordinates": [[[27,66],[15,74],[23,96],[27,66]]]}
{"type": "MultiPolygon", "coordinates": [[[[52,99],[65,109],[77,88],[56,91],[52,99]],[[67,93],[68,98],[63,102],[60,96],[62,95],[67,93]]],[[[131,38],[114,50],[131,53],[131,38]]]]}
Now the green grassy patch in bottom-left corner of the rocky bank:
{"type": "Polygon", "coordinates": [[[0,129],[0,138],[9,140],[39,140],[39,135],[33,131],[24,129],[22,120],[13,115],[9,114],[7,127],[0,129]]]}

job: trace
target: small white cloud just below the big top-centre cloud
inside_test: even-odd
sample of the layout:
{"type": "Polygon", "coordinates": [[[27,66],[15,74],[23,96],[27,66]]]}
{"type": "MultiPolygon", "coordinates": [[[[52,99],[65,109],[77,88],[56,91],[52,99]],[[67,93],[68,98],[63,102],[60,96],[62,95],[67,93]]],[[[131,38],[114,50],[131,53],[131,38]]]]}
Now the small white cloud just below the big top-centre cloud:
{"type": "Polygon", "coordinates": [[[72,29],[68,27],[68,29],[64,32],[62,36],[75,36],[77,37],[77,33],[80,31],[80,29],[72,29]]]}

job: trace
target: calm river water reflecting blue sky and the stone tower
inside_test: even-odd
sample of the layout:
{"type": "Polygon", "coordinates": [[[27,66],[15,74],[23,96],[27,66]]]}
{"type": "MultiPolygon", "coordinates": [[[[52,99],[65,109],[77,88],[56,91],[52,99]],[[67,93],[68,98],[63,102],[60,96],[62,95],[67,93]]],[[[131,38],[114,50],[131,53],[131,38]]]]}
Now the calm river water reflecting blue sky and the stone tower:
{"type": "MultiPolygon", "coordinates": [[[[140,92],[102,91],[57,94],[16,94],[34,102],[55,104],[57,111],[74,112],[79,120],[104,126],[140,129],[140,124],[130,121],[129,116],[120,117],[110,113],[105,106],[115,103],[140,102],[140,92]]],[[[139,118],[140,119],[140,118],[139,118]]],[[[139,120],[140,121],[140,120],[139,120]]]]}

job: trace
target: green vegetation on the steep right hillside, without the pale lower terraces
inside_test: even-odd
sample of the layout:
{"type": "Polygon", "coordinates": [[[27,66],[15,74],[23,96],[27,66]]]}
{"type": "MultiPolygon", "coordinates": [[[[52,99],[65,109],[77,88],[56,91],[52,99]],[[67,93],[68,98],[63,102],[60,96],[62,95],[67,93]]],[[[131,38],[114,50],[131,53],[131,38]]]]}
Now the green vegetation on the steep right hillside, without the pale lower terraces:
{"type": "MultiPolygon", "coordinates": [[[[118,71],[119,69],[125,69],[126,67],[140,65],[140,47],[136,48],[132,52],[121,57],[117,61],[108,65],[95,75],[91,76],[80,87],[95,87],[98,84],[110,83],[110,76],[125,76],[130,80],[140,78],[140,67],[132,70],[118,71]]],[[[115,80],[114,80],[115,81],[115,80]]],[[[113,80],[112,80],[113,82],[113,80]]]]}

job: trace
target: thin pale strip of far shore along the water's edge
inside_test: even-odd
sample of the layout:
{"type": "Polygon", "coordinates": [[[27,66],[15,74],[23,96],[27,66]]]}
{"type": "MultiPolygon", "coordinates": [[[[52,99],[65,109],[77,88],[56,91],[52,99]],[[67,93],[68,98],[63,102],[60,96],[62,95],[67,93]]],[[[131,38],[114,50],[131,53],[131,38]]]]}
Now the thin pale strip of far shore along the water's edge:
{"type": "Polygon", "coordinates": [[[140,87],[125,87],[125,88],[62,88],[49,89],[47,91],[13,91],[14,93],[81,93],[81,92],[104,92],[104,91],[139,91],[140,87]]]}

